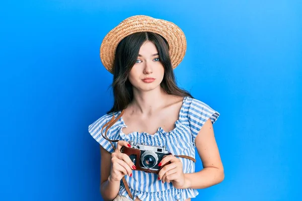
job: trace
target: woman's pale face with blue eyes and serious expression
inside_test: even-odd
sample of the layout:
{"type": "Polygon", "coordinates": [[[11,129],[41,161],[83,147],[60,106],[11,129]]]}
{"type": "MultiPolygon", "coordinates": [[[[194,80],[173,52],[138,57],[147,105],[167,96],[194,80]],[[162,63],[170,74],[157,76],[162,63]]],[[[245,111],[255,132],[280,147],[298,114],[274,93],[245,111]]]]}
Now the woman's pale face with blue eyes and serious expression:
{"type": "Polygon", "coordinates": [[[129,73],[130,83],[138,90],[153,90],[160,87],[164,78],[164,66],[160,62],[154,43],[146,41],[129,73]]]}

